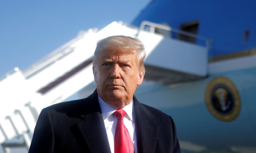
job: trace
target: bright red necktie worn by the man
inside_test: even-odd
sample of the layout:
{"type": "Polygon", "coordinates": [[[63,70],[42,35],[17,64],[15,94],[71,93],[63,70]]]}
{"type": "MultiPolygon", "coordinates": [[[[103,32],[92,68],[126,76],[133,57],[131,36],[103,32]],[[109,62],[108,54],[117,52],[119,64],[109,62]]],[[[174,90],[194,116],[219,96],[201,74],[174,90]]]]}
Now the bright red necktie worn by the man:
{"type": "Polygon", "coordinates": [[[123,121],[126,112],[123,109],[119,109],[113,114],[118,118],[114,137],[115,153],[133,153],[132,139],[123,121]]]}

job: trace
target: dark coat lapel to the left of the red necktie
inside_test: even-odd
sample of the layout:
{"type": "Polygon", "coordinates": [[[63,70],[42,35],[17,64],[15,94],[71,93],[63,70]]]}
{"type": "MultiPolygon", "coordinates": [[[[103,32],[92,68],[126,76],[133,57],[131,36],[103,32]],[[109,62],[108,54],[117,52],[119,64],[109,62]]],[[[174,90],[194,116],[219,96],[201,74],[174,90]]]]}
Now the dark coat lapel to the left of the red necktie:
{"type": "Polygon", "coordinates": [[[108,136],[104,121],[101,115],[101,109],[98,102],[97,91],[87,98],[84,119],[76,125],[79,132],[82,134],[83,139],[88,145],[92,153],[110,153],[108,136]]]}

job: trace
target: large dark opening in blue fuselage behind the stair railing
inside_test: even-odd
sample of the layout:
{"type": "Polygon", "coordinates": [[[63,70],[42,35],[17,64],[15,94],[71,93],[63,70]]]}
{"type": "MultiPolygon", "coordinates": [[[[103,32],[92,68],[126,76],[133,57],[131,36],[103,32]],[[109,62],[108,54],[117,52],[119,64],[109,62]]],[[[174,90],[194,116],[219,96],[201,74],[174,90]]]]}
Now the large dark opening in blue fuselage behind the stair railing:
{"type": "MultiPolygon", "coordinates": [[[[195,20],[185,24],[181,24],[180,30],[196,35],[198,31],[198,26],[199,26],[199,20],[195,20]]],[[[184,35],[184,34],[179,34],[178,39],[184,40],[186,42],[196,43],[195,37],[184,35]]]]}

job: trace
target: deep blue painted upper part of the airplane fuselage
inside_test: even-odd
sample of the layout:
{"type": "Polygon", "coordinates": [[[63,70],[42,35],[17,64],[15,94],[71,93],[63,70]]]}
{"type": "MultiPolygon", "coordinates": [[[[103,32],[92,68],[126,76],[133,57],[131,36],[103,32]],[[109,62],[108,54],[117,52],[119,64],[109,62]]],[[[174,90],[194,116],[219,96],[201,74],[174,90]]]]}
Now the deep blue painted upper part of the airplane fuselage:
{"type": "Polygon", "coordinates": [[[255,0],[153,0],[132,24],[139,27],[148,20],[179,29],[199,20],[197,34],[212,38],[209,56],[213,57],[256,48],[255,6],[255,0]],[[248,42],[244,41],[245,30],[250,31],[248,42]]]}

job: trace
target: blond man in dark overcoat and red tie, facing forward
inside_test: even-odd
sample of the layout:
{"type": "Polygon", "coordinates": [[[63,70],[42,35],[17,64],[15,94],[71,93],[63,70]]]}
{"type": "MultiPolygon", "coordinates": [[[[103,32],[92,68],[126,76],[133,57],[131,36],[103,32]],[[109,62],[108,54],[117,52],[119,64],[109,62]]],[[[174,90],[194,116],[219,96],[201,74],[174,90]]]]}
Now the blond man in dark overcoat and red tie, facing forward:
{"type": "Polygon", "coordinates": [[[145,74],[144,46],[127,36],[97,43],[97,89],[85,99],[41,111],[29,153],[180,152],[172,118],[133,95],[145,74]]]}

